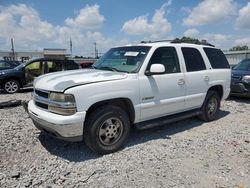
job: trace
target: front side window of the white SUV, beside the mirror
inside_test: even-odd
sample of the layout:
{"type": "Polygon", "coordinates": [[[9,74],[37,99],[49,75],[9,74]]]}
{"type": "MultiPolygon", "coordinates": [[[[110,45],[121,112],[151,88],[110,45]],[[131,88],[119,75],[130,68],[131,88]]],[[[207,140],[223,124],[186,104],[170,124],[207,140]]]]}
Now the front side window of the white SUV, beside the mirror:
{"type": "Polygon", "coordinates": [[[152,64],[162,64],[165,67],[165,73],[180,72],[180,65],[175,48],[161,47],[155,50],[150,59],[148,70],[152,64]]]}

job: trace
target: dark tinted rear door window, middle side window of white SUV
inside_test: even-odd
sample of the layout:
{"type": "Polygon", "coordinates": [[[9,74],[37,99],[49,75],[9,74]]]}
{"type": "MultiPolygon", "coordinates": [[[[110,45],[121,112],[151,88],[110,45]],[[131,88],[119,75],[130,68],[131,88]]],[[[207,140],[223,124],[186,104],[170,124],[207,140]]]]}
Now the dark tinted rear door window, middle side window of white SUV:
{"type": "Polygon", "coordinates": [[[195,48],[181,48],[187,72],[205,70],[206,66],[199,50],[195,48]]]}

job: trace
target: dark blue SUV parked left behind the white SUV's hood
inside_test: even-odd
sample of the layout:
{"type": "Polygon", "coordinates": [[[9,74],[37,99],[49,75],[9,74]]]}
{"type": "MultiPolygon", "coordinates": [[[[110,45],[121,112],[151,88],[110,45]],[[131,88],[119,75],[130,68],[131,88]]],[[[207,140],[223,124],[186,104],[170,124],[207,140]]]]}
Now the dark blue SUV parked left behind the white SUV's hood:
{"type": "Polygon", "coordinates": [[[20,88],[31,87],[33,80],[40,75],[79,68],[72,60],[34,59],[13,69],[1,70],[0,86],[6,93],[15,93],[20,88]]]}

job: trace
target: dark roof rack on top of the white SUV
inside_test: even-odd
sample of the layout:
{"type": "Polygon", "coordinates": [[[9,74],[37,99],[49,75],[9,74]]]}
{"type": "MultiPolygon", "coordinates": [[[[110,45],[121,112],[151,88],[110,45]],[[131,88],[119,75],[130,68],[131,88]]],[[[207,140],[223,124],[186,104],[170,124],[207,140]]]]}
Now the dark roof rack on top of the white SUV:
{"type": "Polygon", "coordinates": [[[214,45],[208,43],[206,40],[199,41],[198,39],[183,40],[183,39],[176,38],[174,40],[157,40],[157,41],[151,41],[151,40],[149,40],[149,41],[141,41],[142,44],[145,44],[145,43],[156,43],[156,42],[170,42],[170,43],[173,43],[173,44],[187,43],[187,44],[197,44],[197,45],[205,45],[205,46],[215,47],[214,45]]]}

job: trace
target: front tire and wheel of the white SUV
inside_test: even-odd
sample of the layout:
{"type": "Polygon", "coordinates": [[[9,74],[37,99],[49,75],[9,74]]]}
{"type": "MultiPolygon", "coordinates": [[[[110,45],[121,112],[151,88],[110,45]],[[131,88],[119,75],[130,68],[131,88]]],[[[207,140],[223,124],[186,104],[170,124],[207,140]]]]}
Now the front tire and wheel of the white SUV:
{"type": "Polygon", "coordinates": [[[103,106],[93,111],[83,130],[85,144],[98,154],[119,150],[127,141],[130,121],[127,113],[117,106],[103,106]]]}

